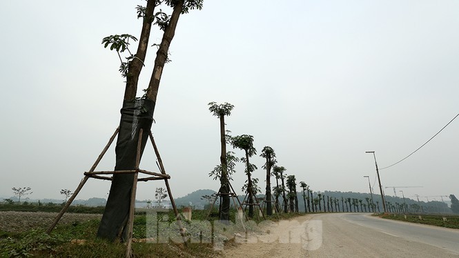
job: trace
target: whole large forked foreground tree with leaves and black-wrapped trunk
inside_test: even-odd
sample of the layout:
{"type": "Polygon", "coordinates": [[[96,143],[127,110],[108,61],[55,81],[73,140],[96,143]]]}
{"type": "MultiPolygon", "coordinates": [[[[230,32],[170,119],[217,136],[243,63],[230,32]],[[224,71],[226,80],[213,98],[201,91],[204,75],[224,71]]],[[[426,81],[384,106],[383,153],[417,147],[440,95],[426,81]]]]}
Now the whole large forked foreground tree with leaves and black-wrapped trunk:
{"type": "MultiPolygon", "coordinates": [[[[148,0],[145,7],[137,6],[137,17],[142,20],[142,28],[135,54],[132,54],[129,50],[129,40],[137,41],[137,38],[130,34],[111,35],[102,40],[105,48],[110,46],[110,50],[116,50],[121,60],[121,75],[126,77],[123,108],[121,108],[119,133],[115,148],[115,171],[135,170],[139,132],[141,129],[143,130],[143,135],[141,135],[141,156],[148,140],[159,82],[164,70],[164,64],[168,61],[169,46],[175,35],[180,14],[193,9],[200,10],[202,2],[203,0],[148,0]],[[155,8],[159,4],[164,4],[172,8],[172,14],[168,15],[161,10],[155,12],[155,8]],[[145,95],[141,98],[136,98],[139,75],[144,66],[146,52],[150,45],[148,41],[152,25],[159,26],[163,31],[162,41],[159,43],[157,49],[150,82],[146,90],[144,90],[145,95]],[[128,50],[129,54],[126,57],[126,61],[123,61],[120,52],[124,52],[125,50],[128,50]]],[[[127,218],[133,183],[133,174],[113,175],[110,194],[108,195],[99,230],[97,230],[97,237],[110,241],[114,241],[119,235],[121,235],[121,239],[128,237],[127,218]]]]}

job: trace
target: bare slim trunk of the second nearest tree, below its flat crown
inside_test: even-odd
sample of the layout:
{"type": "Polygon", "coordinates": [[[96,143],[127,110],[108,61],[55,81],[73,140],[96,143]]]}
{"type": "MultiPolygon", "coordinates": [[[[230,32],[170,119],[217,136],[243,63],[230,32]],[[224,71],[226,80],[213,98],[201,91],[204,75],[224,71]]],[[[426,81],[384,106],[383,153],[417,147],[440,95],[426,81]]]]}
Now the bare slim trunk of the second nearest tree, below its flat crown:
{"type": "Polygon", "coordinates": [[[229,208],[230,208],[230,186],[228,179],[228,161],[226,161],[226,137],[225,137],[225,118],[220,115],[220,143],[222,145],[222,152],[220,153],[220,163],[222,164],[222,175],[220,177],[220,194],[222,202],[220,203],[220,220],[229,221],[229,208]]]}

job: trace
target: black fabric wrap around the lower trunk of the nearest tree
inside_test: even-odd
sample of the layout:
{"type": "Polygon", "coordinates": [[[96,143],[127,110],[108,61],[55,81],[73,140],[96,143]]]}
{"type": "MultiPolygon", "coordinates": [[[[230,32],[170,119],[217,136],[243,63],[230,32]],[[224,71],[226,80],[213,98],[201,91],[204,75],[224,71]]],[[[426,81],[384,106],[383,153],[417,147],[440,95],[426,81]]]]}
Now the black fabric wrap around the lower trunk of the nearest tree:
{"type": "MultiPolygon", "coordinates": [[[[155,101],[139,99],[124,101],[121,108],[121,121],[117,138],[116,170],[135,170],[137,156],[137,142],[139,141],[140,129],[143,129],[141,137],[140,157],[144,152],[151,123],[155,101]]],[[[130,196],[133,188],[134,174],[113,175],[110,194],[108,195],[104,215],[102,216],[97,237],[115,241],[121,230],[122,237],[126,238],[126,222],[129,214],[130,196]]]]}

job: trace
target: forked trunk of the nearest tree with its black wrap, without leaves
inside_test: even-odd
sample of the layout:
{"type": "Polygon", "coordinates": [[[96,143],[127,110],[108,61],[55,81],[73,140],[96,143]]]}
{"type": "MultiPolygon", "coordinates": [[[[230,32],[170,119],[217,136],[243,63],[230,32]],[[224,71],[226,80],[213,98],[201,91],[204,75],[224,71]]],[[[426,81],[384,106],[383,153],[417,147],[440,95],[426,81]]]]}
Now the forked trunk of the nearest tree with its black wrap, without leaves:
{"type": "MultiPolygon", "coordinates": [[[[152,74],[152,78],[154,79],[150,81],[146,99],[135,100],[138,78],[148,48],[148,38],[150,36],[151,22],[153,21],[155,9],[155,1],[148,1],[147,3],[146,17],[142,24],[141,38],[139,40],[137,53],[130,63],[128,75],[126,76],[126,90],[124,92],[123,108],[121,108],[121,121],[119,123],[117,146],[115,148],[115,171],[135,169],[137,141],[139,139],[140,129],[143,129],[143,135],[141,135],[140,157],[144,152],[151,123],[153,121],[153,112],[155,109],[157,89],[159,88],[162,68],[164,67],[164,63],[166,63],[168,48],[174,37],[175,28],[177,27],[177,22],[182,13],[183,6],[184,0],[177,1],[170,22],[164,30],[162,43],[159,46],[155,59],[155,68],[152,74]],[[137,60],[137,58],[140,60],[137,60]]],[[[114,241],[118,236],[121,236],[121,239],[126,239],[128,233],[126,223],[128,221],[133,181],[133,174],[113,175],[104,215],[102,216],[99,229],[97,230],[97,237],[110,241],[114,241]]]]}

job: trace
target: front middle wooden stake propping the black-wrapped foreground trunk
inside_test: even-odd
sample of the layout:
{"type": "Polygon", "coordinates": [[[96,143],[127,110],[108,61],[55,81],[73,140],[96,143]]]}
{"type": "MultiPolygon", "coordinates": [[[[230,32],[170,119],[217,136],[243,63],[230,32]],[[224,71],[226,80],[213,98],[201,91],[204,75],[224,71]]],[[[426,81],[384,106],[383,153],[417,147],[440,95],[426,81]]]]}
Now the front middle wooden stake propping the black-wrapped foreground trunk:
{"type": "MultiPolygon", "coordinates": [[[[139,170],[140,163],[140,148],[141,148],[141,138],[144,130],[140,129],[139,132],[139,141],[137,142],[137,155],[135,159],[135,170],[139,170]]],[[[126,258],[132,257],[132,245],[133,245],[133,228],[134,228],[134,213],[135,213],[135,192],[137,192],[137,177],[139,173],[134,173],[134,182],[133,188],[130,192],[130,208],[129,208],[129,217],[128,217],[128,243],[126,246],[126,258]]]]}

